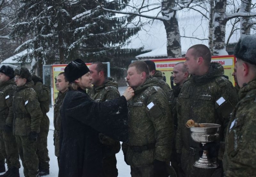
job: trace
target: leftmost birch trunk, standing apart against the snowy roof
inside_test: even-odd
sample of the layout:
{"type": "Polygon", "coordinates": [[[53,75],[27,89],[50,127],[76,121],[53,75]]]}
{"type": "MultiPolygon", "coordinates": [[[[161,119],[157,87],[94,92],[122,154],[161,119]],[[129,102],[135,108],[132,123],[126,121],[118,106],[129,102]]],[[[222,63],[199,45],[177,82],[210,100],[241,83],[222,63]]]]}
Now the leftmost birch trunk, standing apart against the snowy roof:
{"type": "Polygon", "coordinates": [[[169,20],[163,20],[167,37],[167,55],[168,58],[181,57],[180,30],[175,7],[175,0],[162,0],[162,15],[169,20]]]}

